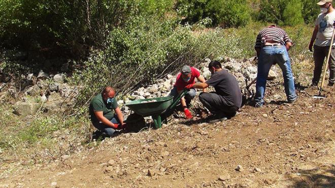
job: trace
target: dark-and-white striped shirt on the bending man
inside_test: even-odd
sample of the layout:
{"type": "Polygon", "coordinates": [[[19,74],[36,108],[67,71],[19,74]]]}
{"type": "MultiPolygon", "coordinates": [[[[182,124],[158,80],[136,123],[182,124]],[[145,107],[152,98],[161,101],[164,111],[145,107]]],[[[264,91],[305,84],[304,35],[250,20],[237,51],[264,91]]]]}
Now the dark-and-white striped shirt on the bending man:
{"type": "Polygon", "coordinates": [[[292,43],[286,32],[278,27],[262,29],[257,36],[255,48],[262,48],[267,41],[275,41],[284,46],[288,42],[292,43]]]}

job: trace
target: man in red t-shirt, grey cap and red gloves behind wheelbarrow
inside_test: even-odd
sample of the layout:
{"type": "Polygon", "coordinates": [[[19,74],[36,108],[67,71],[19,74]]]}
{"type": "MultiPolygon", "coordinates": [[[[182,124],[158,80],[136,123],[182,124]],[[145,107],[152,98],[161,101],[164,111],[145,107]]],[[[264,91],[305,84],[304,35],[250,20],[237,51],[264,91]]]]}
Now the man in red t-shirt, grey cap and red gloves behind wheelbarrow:
{"type": "MultiPolygon", "coordinates": [[[[176,83],[171,90],[170,96],[174,96],[174,98],[176,99],[179,93],[182,92],[187,85],[195,83],[195,78],[199,82],[206,82],[205,78],[200,75],[199,70],[194,67],[185,65],[182,68],[181,72],[177,75],[176,83]]],[[[206,88],[203,89],[203,91],[206,92],[206,88]]],[[[191,112],[188,110],[187,105],[191,103],[191,100],[195,97],[195,93],[195,89],[190,88],[186,95],[180,100],[180,103],[184,109],[185,117],[187,119],[193,117],[191,112]]]]}

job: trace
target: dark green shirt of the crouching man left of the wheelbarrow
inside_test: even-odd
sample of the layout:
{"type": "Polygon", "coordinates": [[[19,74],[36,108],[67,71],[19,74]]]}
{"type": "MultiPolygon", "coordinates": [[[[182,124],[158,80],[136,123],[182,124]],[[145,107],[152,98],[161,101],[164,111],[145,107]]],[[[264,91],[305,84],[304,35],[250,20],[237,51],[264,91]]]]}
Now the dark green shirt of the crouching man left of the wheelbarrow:
{"type": "Polygon", "coordinates": [[[103,96],[99,93],[95,96],[89,104],[89,116],[92,122],[98,122],[99,120],[95,117],[94,112],[103,112],[104,117],[111,120],[114,117],[113,110],[118,107],[117,100],[114,98],[113,104],[107,104],[103,100],[103,96]]]}

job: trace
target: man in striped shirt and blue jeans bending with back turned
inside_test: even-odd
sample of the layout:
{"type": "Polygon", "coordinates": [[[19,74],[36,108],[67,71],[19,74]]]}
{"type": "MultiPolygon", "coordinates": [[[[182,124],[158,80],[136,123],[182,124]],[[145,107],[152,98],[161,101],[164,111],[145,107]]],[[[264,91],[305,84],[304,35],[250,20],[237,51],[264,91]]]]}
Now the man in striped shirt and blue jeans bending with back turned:
{"type": "Polygon", "coordinates": [[[266,79],[274,64],[278,64],[282,69],[287,101],[292,103],[296,100],[291,62],[287,52],[291,46],[291,39],[276,25],[271,25],[259,32],[255,44],[258,57],[255,107],[261,107],[264,104],[266,79]]]}

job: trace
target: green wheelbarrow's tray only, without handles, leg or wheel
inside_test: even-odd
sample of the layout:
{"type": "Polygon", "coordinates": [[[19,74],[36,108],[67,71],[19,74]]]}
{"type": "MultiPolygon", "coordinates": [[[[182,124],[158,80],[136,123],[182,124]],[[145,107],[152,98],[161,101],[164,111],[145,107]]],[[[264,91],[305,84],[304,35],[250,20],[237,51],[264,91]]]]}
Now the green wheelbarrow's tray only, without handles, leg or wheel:
{"type": "Polygon", "coordinates": [[[173,98],[173,96],[169,96],[160,98],[140,99],[136,101],[131,101],[125,105],[133,112],[142,115],[143,117],[146,117],[162,114],[166,109],[171,106],[173,98]],[[155,100],[155,102],[149,102],[153,100],[155,100]]]}

